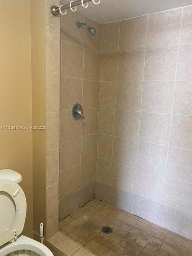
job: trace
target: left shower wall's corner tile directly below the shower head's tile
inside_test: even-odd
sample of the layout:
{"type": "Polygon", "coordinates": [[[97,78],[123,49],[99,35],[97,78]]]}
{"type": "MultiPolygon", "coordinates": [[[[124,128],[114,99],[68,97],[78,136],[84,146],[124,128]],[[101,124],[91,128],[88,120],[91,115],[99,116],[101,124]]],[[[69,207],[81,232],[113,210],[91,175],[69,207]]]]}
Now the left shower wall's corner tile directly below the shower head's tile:
{"type": "Polygon", "coordinates": [[[84,50],[84,79],[99,81],[100,54],[84,50]]]}

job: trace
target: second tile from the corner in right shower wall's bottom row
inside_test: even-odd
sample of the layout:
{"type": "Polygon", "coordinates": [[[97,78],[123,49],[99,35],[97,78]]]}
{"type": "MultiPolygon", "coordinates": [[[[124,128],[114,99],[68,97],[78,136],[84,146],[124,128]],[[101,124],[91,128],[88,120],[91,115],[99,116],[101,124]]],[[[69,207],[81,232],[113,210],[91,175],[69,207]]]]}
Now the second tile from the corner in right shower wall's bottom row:
{"type": "Polygon", "coordinates": [[[111,188],[110,204],[126,212],[133,213],[134,195],[120,189],[111,188]]]}

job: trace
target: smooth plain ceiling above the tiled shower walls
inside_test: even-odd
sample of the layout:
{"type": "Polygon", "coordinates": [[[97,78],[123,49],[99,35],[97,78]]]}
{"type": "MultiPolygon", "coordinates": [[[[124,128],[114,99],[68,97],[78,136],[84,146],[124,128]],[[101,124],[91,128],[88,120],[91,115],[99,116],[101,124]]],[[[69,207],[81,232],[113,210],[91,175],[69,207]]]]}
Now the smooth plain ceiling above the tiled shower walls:
{"type": "Polygon", "coordinates": [[[109,23],[187,5],[192,5],[192,0],[101,0],[98,5],[91,1],[86,9],[78,6],[78,11],[97,22],[109,23]]]}

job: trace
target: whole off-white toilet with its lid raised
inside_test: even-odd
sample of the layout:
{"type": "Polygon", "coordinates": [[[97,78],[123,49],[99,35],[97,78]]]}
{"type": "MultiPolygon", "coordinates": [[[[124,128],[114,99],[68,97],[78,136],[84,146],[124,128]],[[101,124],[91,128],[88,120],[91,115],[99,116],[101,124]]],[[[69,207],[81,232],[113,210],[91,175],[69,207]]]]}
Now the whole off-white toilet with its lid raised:
{"type": "Polygon", "coordinates": [[[0,170],[0,256],[53,256],[44,244],[21,235],[26,217],[21,181],[18,172],[0,170]]]}

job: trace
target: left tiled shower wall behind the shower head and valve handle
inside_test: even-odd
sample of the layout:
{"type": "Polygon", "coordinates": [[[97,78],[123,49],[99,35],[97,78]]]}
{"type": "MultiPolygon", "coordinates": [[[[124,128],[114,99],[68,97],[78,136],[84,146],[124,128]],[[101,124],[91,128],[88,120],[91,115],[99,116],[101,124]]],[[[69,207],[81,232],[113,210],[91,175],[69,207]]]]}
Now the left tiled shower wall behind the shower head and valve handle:
{"type": "Polygon", "coordinates": [[[100,44],[100,24],[78,12],[68,11],[61,17],[60,219],[94,198],[100,44]],[[78,29],[77,21],[94,26],[96,36],[91,37],[83,27],[78,29]],[[71,116],[71,108],[76,103],[83,106],[83,122],[71,116]]]}

